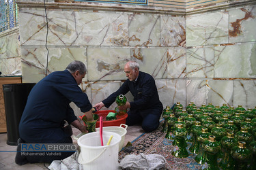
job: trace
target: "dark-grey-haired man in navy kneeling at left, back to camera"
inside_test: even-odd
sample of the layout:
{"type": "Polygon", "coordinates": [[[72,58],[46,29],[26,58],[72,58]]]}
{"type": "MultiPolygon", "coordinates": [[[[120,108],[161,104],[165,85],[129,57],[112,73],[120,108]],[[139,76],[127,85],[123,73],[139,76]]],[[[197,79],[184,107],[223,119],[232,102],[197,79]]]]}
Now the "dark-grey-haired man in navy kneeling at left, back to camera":
{"type": "MultiPolygon", "coordinates": [[[[85,77],[86,67],[81,61],[72,61],[64,71],[55,71],[33,86],[23,115],[20,119],[19,134],[21,143],[72,143],[72,129],[69,133],[64,127],[64,120],[81,132],[87,133],[74,115],[70,103],[74,102],[88,121],[93,121],[91,103],[85,92],[79,88],[85,77]]],[[[19,146],[18,146],[19,147],[19,146]]],[[[61,156],[20,156],[16,155],[16,163],[48,162],[68,157],[72,152],[61,152],[61,156]]]]}

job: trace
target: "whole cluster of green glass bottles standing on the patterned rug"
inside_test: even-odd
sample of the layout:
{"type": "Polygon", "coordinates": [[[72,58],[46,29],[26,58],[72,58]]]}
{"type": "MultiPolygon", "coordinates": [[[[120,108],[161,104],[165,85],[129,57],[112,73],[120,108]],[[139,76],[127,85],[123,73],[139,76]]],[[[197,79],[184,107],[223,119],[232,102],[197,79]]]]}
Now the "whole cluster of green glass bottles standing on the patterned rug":
{"type": "Polygon", "coordinates": [[[201,105],[186,108],[177,102],[163,112],[162,131],[173,139],[173,156],[188,157],[203,169],[256,169],[256,107],[201,105]],[[186,142],[191,142],[188,146],[186,142]]]}

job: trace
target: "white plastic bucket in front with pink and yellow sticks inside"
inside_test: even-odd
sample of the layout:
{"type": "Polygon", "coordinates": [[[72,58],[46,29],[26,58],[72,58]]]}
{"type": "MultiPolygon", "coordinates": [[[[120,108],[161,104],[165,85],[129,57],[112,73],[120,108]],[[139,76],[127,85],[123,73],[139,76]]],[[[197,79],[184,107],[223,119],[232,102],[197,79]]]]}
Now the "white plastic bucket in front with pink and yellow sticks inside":
{"type": "Polygon", "coordinates": [[[117,133],[102,131],[103,146],[100,142],[100,132],[87,133],[79,137],[77,143],[81,148],[78,162],[86,170],[118,169],[118,148],[121,136],[117,133]],[[111,135],[109,146],[106,143],[111,135]]]}

